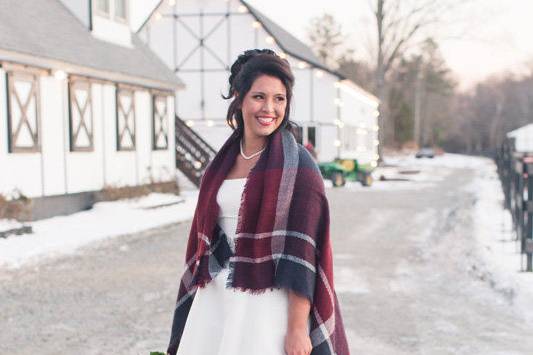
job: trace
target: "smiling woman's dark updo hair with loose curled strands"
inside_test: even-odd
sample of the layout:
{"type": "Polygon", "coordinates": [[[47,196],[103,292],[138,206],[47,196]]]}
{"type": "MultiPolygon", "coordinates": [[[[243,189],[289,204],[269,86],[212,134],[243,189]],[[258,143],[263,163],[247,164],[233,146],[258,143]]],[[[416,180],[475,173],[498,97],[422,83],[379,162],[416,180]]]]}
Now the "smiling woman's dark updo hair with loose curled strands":
{"type": "Polygon", "coordinates": [[[285,86],[287,92],[285,116],[277,129],[286,128],[292,131],[293,127],[296,126],[295,123],[289,120],[292,87],[294,86],[294,75],[289,62],[279,57],[273,50],[251,49],[239,55],[231,66],[228,95],[222,95],[226,100],[233,98],[226,114],[226,122],[233,130],[237,130],[241,136],[244,133],[244,120],[241,111],[242,100],[250,91],[255,79],[261,75],[278,78],[285,86]]]}

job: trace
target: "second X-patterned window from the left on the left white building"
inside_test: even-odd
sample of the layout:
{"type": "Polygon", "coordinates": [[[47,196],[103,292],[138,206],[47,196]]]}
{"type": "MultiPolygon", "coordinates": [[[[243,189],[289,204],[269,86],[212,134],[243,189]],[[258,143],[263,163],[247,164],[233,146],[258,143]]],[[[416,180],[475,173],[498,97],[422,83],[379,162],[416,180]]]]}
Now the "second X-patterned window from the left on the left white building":
{"type": "Polygon", "coordinates": [[[85,79],[71,79],[68,88],[70,151],[92,151],[94,145],[91,83],[85,79]]]}

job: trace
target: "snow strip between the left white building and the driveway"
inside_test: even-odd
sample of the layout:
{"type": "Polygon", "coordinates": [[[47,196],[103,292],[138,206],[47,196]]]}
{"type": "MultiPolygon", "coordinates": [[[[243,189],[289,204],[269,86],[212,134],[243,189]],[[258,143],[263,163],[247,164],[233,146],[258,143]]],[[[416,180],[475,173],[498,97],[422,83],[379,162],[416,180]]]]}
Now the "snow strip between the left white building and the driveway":
{"type": "Polygon", "coordinates": [[[32,222],[32,234],[0,239],[0,267],[69,254],[95,241],[191,219],[197,191],[100,202],[88,211],[32,222]],[[162,206],[162,207],[158,207],[162,206]]]}

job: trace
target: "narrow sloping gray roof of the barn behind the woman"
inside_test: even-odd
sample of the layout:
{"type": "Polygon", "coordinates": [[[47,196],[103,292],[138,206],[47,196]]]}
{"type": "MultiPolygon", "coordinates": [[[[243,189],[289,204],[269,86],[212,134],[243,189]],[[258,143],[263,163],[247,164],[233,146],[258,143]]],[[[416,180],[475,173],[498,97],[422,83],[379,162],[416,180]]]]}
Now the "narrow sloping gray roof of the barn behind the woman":
{"type": "Polygon", "coordinates": [[[294,37],[283,27],[269,19],[266,15],[264,15],[262,12],[248,4],[246,1],[241,0],[241,2],[248,8],[252,16],[254,16],[257,21],[261,22],[263,28],[272,37],[276,39],[276,42],[284,52],[290,54],[295,58],[306,61],[312,64],[313,66],[316,66],[334,75],[342,77],[341,74],[322,63],[322,61],[313,53],[313,51],[311,50],[311,48],[309,48],[308,45],[300,41],[298,38],[294,37]]]}

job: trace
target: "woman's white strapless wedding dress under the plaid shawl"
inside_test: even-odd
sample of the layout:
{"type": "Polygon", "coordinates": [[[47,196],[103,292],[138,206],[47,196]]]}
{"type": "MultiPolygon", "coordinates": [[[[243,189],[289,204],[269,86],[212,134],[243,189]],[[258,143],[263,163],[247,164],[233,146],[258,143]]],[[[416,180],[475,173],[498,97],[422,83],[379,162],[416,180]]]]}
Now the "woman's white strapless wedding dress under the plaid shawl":
{"type": "MultiPolygon", "coordinates": [[[[224,180],[218,223],[230,246],[246,179],[224,180]]],[[[233,247],[232,247],[233,248],[233,247]]],[[[284,355],[288,321],[285,289],[252,294],[226,288],[226,267],[197,290],[177,355],[284,355]]]]}

